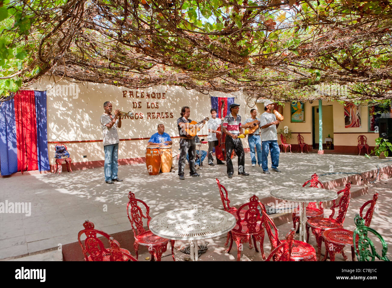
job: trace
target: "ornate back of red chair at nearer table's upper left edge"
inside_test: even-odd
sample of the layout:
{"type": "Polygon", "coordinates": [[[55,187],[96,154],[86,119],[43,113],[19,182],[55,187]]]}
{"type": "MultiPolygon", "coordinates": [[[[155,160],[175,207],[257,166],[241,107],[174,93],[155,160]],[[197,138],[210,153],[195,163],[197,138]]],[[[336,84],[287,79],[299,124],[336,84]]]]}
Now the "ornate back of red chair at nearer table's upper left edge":
{"type": "Polygon", "coordinates": [[[135,194],[131,191],[128,193],[128,198],[129,201],[127,204],[127,216],[129,222],[131,222],[134,237],[136,237],[138,234],[146,232],[143,227],[143,218],[147,219],[147,226],[150,225],[150,207],[144,201],[136,199],[135,194]],[[144,209],[146,211],[145,214],[143,213],[144,209]]]}

